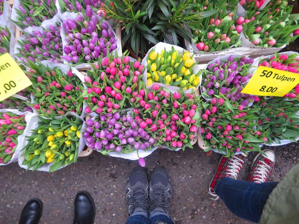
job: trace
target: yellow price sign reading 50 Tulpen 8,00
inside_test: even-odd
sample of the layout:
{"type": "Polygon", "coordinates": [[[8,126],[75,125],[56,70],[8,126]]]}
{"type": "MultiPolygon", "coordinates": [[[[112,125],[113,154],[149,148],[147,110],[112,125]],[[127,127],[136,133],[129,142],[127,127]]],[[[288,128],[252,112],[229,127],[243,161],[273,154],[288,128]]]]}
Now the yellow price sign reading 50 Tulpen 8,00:
{"type": "Polygon", "coordinates": [[[241,93],[284,96],[299,83],[299,74],[260,66],[241,93]]]}

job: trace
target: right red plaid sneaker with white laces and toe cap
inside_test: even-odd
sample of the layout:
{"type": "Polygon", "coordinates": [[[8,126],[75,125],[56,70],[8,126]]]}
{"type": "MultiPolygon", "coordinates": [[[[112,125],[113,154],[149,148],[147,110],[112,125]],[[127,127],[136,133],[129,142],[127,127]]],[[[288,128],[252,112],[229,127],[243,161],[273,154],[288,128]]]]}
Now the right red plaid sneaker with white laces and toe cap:
{"type": "Polygon", "coordinates": [[[246,181],[255,183],[264,183],[269,181],[271,172],[274,168],[275,154],[270,149],[264,149],[263,152],[254,157],[251,164],[251,171],[246,181]]]}

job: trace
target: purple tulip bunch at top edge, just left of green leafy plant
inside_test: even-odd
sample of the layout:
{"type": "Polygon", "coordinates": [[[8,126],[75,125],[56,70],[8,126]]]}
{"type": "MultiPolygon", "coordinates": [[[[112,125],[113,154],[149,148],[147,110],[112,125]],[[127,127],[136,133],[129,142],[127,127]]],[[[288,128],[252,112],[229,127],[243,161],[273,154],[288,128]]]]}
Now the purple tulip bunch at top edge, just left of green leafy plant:
{"type": "Polygon", "coordinates": [[[77,1],[69,1],[62,0],[59,1],[59,5],[62,13],[64,12],[82,12],[82,10],[86,10],[87,7],[92,6],[94,8],[99,8],[102,2],[100,0],[77,0],[77,1]]]}

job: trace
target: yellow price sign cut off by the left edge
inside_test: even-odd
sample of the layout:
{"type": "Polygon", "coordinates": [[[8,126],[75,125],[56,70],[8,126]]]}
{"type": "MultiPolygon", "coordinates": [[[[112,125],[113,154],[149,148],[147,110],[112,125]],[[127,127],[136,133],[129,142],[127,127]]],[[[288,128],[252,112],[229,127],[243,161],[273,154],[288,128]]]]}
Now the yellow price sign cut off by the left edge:
{"type": "Polygon", "coordinates": [[[0,101],[32,85],[9,53],[0,56],[0,80],[0,101]]]}

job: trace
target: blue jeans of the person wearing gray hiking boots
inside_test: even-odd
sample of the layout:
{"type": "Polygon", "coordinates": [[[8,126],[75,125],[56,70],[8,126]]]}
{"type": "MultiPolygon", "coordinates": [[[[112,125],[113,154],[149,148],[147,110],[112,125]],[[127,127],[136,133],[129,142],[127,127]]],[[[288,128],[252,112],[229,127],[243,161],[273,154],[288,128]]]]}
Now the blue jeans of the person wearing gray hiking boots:
{"type": "Polygon", "coordinates": [[[164,222],[165,224],[174,224],[169,215],[162,212],[154,212],[149,217],[145,212],[138,212],[131,215],[126,224],[155,224],[164,222]]]}

